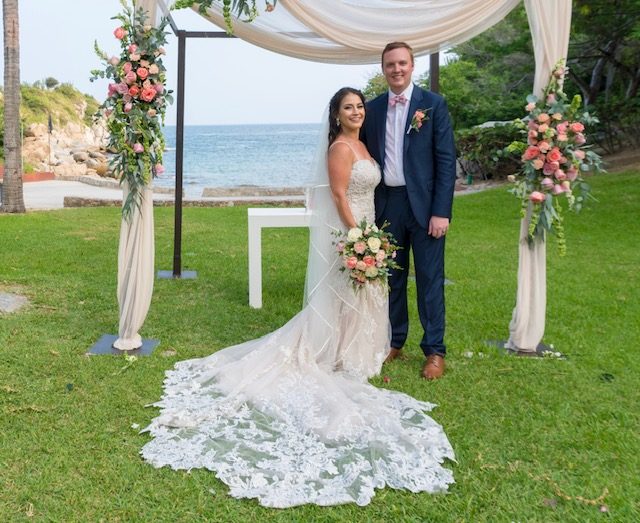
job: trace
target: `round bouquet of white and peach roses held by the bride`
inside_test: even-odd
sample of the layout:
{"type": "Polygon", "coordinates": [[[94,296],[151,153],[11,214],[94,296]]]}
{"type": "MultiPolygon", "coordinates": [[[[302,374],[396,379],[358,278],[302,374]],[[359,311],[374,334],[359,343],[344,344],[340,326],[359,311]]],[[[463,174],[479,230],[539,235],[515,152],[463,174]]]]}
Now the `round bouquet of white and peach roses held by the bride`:
{"type": "Polygon", "coordinates": [[[378,228],[362,220],[356,227],[335,233],[334,242],[342,259],[341,271],[348,271],[351,283],[358,290],[367,283],[388,284],[389,270],[397,269],[395,262],[398,246],[393,235],[384,230],[388,223],[378,228]]]}

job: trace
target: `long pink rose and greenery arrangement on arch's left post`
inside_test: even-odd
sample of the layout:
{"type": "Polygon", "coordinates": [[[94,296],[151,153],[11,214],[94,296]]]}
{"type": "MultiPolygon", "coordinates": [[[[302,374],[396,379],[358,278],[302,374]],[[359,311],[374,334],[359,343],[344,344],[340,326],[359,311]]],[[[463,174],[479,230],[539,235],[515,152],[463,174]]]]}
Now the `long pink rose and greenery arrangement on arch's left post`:
{"type": "Polygon", "coordinates": [[[142,188],[162,172],[165,142],[162,125],[167,105],[173,102],[165,87],[166,69],[162,63],[168,20],[158,27],[147,21],[147,14],[135,3],[120,0],[123,12],[114,16],[120,25],[113,35],[119,41],[120,56],[109,57],[95,43],[104,69],[91,71],[91,81],[111,80],[107,98],[96,113],[106,118],[108,149],[115,151],[111,167],[120,183],[127,182],[129,194],[123,215],[130,217],[132,206],[140,204],[142,188]]]}

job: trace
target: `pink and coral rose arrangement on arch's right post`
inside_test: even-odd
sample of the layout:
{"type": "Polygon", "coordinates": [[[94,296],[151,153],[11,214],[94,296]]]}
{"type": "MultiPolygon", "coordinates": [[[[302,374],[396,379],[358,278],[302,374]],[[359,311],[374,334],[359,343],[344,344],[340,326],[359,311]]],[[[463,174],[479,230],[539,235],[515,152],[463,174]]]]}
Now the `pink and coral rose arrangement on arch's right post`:
{"type": "Polygon", "coordinates": [[[529,115],[520,120],[525,141],[513,142],[508,152],[522,154],[522,169],[508,177],[512,193],[522,201],[522,217],[529,206],[528,238],[556,235],[560,255],[566,253],[563,201],[569,210],[579,212],[590,195],[582,177],[601,169],[601,158],[587,145],[585,130],[598,119],[582,109],[580,95],[569,102],[562,90],[567,67],[561,60],[551,73],[543,95],[527,97],[529,115]]]}

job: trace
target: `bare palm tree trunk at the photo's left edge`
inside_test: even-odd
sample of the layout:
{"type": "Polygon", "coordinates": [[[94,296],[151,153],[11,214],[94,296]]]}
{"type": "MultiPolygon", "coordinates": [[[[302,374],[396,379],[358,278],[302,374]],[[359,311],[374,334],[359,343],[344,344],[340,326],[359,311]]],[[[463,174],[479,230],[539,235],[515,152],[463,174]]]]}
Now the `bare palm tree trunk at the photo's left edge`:
{"type": "Polygon", "coordinates": [[[25,212],[20,136],[20,23],[18,0],[2,0],[4,22],[4,182],[2,211],[25,212]]]}

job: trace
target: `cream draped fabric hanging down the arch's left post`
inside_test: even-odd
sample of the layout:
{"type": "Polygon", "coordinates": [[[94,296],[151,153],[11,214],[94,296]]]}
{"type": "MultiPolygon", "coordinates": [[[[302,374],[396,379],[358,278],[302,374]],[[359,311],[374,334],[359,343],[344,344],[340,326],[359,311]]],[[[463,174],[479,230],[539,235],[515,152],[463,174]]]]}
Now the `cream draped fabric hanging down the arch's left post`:
{"type": "MultiPolygon", "coordinates": [[[[138,0],[137,6],[156,20],[156,0],[138,0]]],[[[129,187],[122,187],[122,202],[127,200],[129,187]]],[[[119,350],[134,350],[142,346],[138,331],[142,328],[153,294],[154,274],[153,192],[151,185],[143,189],[139,207],[134,207],[129,219],[122,219],[118,248],[118,307],[120,324],[119,350]]]]}

